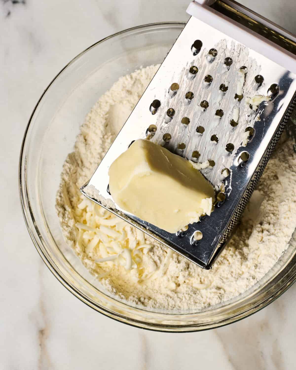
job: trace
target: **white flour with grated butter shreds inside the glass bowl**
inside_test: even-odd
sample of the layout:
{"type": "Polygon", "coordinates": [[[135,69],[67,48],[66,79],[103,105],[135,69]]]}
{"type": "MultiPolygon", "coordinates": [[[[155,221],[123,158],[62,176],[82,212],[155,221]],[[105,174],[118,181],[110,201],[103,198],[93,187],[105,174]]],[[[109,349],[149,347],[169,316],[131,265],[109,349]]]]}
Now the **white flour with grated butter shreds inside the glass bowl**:
{"type": "Polygon", "coordinates": [[[296,226],[296,156],[292,141],[283,139],[235,235],[209,271],[83,201],[80,186],[96,169],[156,70],[157,66],[147,67],[120,78],[94,105],[81,126],[74,152],[65,161],[56,208],[65,240],[110,293],[159,309],[201,309],[245,292],[287,248],[296,226]],[[126,235],[121,242],[104,233],[102,222],[113,221],[116,226],[108,226],[109,230],[126,235]],[[83,224],[96,231],[81,229],[87,227],[83,224]],[[122,248],[127,249],[126,255],[122,248]],[[94,262],[116,257],[117,252],[116,264],[94,262]],[[129,256],[133,260],[127,270],[129,256]]]}

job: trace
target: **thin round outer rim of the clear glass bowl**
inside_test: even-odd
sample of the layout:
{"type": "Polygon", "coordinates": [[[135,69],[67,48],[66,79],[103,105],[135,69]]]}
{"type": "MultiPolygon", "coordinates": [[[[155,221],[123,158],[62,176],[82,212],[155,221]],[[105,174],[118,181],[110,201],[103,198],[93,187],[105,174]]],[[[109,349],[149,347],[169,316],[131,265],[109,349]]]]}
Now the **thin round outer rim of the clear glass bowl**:
{"type": "MultiPolygon", "coordinates": [[[[145,27],[155,27],[155,26],[185,26],[186,22],[184,21],[167,21],[167,22],[156,22],[156,23],[147,23],[147,24],[142,24],[139,26],[135,27],[130,27],[126,28],[122,31],[113,33],[107,37],[102,38],[101,40],[97,41],[96,43],[92,44],[91,46],[87,47],[85,50],[81,51],[78,55],[76,55],[73,59],[71,59],[56,75],[55,77],[50,81],[50,83],[47,85],[46,89],[43,91],[41,94],[40,98],[38,99],[31,115],[28,120],[23,140],[21,143],[21,149],[20,149],[20,157],[19,157],[19,168],[18,168],[18,180],[19,180],[19,196],[20,196],[20,204],[21,204],[21,210],[23,213],[24,221],[28,230],[28,233],[30,235],[30,238],[37,249],[37,252],[39,253],[41,259],[43,262],[46,264],[47,268],[53,273],[55,278],[70,292],[72,293],[75,297],[77,297],[81,302],[85,303],[88,307],[91,307],[97,312],[100,312],[104,316],[110,317],[111,319],[114,319],[118,322],[128,324],[130,326],[134,326],[140,329],[146,329],[146,330],[152,330],[152,331],[157,331],[157,332],[172,332],[172,333],[189,333],[189,332],[199,332],[199,331],[204,331],[204,330],[211,330],[215,329],[218,327],[226,326],[231,323],[237,322],[239,320],[244,319],[245,317],[249,317],[250,315],[258,312],[259,310],[263,309],[264,307],[268,306],[270,303],[272,303],[274,300],[276,300],[279,296],[281,296],[290,286],[293,285],[293,283],[296,281],[296,273],[292,276],[290,276],[289,279],[285,281],[285,283],[279,287],[275,292],[272,293],[269,297],[265,298],[262,300],[262,302],[259,302],[258,305],[253,306],[251,308],[245,309],[243,312],[239,312],[235,315],[229,316],[219,322],[214,322],[214,323],[206,323],[203,324],[203,327],[196,327],[196,324],[188,324],[188,325],[182,325],[179,326],[177,324],[172,324],[172,325],[167,325],[167,324],[155,324],[155,323],[147,323],[141,320],[137,319],[131,319],[128,317],[125,317],[122,314],[112,312],[108,310],[107,308],[97,305],[94,302],[92,302],[90,299],[88,299],[87,296],[85,296],[82,292],[80,292],[72,283],[69,281],[66,281],[63,276],[59,273],[58,269],[55,267],[53,260],[48,258],[43,250],[39,246],[39,242],[34,235],[33,229],[31,228],[29,224],[29,219],[33,221],[34,216],[33,213],[31,212],[30,208],[30,202],[26,204],[27,201],[27,195],[26,192],[24,191],[26,187],[23,184],[23,178],[22,178],[22,173],[24,172],[24,148],[27,140],[27,134],[28,130],[32,121],[32,118],[37,110],[38,105],[40,104],[41,100],[43,99],[43,96],[46,94],[48,89],[51,87],[51,85],[54,83],[55,80],[63,73],[63,71],[70,65],[72,64],[75,60],[77,60],[81,55],[85,54],[88,50],[90,50],[93,47],[96,47],[97,45],[101,44],[102,42],[118,36],[120,34],[126,33],[128,31],[134,31],[137,29],[145,28],[145,27]],[[205,327],[207,326],[207,327],[205,327]]],[[[25,183],[26,181],[24,181],[25,183]]],[[[36,231],[37,226],[35,226],[34,230],[36,231]]]]}

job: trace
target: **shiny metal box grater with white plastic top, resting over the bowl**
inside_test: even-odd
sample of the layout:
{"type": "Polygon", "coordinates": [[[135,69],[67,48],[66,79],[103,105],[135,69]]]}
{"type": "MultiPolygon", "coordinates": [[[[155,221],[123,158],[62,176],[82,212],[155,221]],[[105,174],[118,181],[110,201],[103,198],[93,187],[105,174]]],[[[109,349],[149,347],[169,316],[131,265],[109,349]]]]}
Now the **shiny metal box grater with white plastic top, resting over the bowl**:
{"type": "MultiPolygon", "coordinates": [[[[205,269],[225,246],[249,201],[293,110],[296,91],[295,37],[233,1],[211,3],[189,5],[192,17],[81,188],[88,198],[205,269]],[[256,95],[270,100],[255,109],[247,102],[256,95]],[[107,206],[112,200],[111,163],[132,141],[145,137],[210,165],[201,172],[216,189],[211,216],[170,234],[107,206]]],[[[153,196],[153,189],[147,196],[153,196]]]]}

